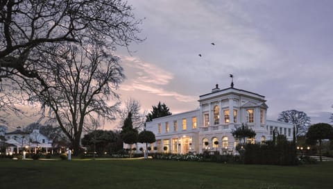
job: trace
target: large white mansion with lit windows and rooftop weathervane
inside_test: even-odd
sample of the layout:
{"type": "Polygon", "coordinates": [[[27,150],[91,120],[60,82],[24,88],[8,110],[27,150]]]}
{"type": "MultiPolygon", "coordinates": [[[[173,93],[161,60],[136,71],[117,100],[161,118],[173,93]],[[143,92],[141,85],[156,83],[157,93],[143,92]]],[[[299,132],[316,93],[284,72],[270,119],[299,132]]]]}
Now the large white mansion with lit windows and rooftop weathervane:
{"type": "Polygon", "coordinates": [[[156,136],[151,147],[157,146],[157,151],[174,154],[202,153],[204,150],[231,154],[237,145],[231,132],[241,124],[257,133],[255,138],[248,138],[248,142],[271,140],[273,130],[292,140],[293,124],[267,120],[268,106],[260,94],[233,88],[233,84],[223,90],[216,85],[198,101],[200,108],[197,110],[146,122],[146,130],[156,136]]]}

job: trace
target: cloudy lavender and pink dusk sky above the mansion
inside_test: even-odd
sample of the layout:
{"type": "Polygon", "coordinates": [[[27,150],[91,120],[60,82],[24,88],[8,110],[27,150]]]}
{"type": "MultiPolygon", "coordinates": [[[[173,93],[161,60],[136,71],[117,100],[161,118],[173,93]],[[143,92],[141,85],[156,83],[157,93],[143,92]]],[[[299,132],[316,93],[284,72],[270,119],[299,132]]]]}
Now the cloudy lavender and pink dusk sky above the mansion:
{"type": "MultiPolygon", "coordinates": [[[[129,0],[146,40],[117,49],[122,101],[171,113],[198,108],[201,94],[230,87],[266,97],[267,116],[296,109],[311,123],[333,113],[333,1],[129,0]],[[211,43],[214,42],[215,45],[211,43]],[[198,54],[201,55],[198,56],[198,54]]],[[[22,120],[17,118],[17,120],[22,120]]],[[[33,118],[23,119],[24,123],[33,118]]],[[[24,124],[22,123],[22,124],[24,124]]],[[[105,125],[114,129],[119,122],[105,125]]]]}

